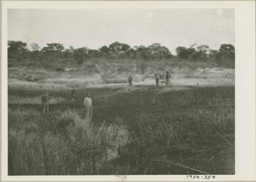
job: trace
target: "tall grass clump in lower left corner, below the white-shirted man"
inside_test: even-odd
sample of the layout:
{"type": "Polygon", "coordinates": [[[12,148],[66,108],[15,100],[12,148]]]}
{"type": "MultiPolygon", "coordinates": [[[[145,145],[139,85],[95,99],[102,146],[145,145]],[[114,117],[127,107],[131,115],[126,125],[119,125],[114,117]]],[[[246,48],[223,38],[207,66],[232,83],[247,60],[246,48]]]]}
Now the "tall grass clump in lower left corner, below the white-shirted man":
{"type": "Polygon", "coordinates": [[[84,123],[73,111],[8,111],[8,175],[100,174],[130,134],[115,123],[84,123]]]}

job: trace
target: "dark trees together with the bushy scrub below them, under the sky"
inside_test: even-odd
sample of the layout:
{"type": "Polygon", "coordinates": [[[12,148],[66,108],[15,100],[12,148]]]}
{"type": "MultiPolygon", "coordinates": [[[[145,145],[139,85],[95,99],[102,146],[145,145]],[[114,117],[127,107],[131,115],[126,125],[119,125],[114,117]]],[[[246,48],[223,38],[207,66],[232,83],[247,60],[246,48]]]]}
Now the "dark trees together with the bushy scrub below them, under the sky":
{"type": "MultiPolygon", "coordinates": [[[[176,48],[177,56],[159,43],[147,47],[143,45],[131,47],[124,43],[114,42],[98,50],[88,47],[75,49],[72,46],[65,49],[59,43],[47,44],[41,50],[36,44],[31,46],[32,51],[28,49],[25,42],[8,41],[8,66],[29,66],[63,71],[67,67],[81,67],[82,64],[89,63],[87,64],[88,72],[97,72],[98,70],[92,66],[97,64],[97,60],[100,60],[101,64],[102,62],[115,62],[124,65],[129,64],[129,60],[133,60],[137,71],[145,73],[148,62],[161,63],[167,60],[175,64],[181,61],[180,66],[186,63],[203,62],[219,67],[234,68],[234,47],[230,44],[222,44],[219,50],[212,50],[208,45],[193,44],[189,48],[179,46],[176,48]]],[[[120,67],[118,71],[122,72],[122,68],[120,67]]]]}

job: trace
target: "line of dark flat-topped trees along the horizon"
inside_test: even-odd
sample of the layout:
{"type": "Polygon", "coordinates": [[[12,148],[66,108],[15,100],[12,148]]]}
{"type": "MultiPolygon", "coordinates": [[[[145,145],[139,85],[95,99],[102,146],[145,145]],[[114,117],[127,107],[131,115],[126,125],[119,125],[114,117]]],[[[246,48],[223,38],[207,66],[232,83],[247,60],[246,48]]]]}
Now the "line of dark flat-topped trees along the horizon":
{"type": "Polygon", "coordinates": [[[98,49],[90,49],[86,46],[74,48],[70,46],[65,48],[61,43],[47,43],[45,47],[40,47],[37,43],[30,44],[28,48],[26,42],[8,41],[8,59],[15,61],[23,60],[48,60],[56,61],[59,59],[69,59],[78,64],[86,62],[90,58],[104,59],[141,59],[145,61],[163,60],[177,57],[188,61],[203,61],[214,58],[218,64],[223,59],[234,60],[234,46],[231,44],[222,44],[219,50],[210,49],[208,45],[193,44],[190,47],[179,46],[176,48],[177,56],[174,56],[167,47],[160,43],[153,43],[150,46],[134,46],[114,42],[110,45],[104,45],[98,49]]]}

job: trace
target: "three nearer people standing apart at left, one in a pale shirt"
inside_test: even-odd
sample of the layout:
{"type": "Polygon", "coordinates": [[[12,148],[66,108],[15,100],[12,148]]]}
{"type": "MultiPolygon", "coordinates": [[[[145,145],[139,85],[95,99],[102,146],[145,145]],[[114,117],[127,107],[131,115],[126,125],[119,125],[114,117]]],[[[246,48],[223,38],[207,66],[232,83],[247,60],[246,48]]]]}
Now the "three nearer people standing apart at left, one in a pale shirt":
{"type": "MultiPolygon", "coordinates": [[[[71,91],[72,101],[75,101],[76,98],[76,91],[73,87],[73,90],[71,91]]],[[[47,93],[47,90],[45,90],[44,93],[42,93],[41,101],[42,101],[42,112],[49,112],[49,94],[47,93]]],[[[85,108],[85,117],[84,119],[86,122],[90,123],[93,117],[93,105],[92,105],[92,98],[91,93],[87,92],[87,96],[83,99],[83,105],[85,108]]]]}

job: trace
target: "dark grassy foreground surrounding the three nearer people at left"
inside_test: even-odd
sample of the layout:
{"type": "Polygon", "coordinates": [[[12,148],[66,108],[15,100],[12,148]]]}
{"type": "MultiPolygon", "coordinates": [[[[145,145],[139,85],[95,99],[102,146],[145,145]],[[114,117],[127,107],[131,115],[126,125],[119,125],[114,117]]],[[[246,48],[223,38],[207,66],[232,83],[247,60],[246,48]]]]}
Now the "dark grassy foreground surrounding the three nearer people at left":
{"type": "Polygon", "coordinates": [[[44,80],[20,87],[11,80],[8,175],[234,174],[234,77],[216,71],[186,77],[176,70],[169,88],[155,87],[153,78],[132,87],[95,84],[78,89],[75,102],[66,82],[44,78],[53,86],[47,114],[39,100],[44,80]]]}

